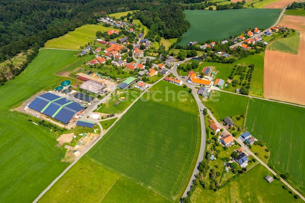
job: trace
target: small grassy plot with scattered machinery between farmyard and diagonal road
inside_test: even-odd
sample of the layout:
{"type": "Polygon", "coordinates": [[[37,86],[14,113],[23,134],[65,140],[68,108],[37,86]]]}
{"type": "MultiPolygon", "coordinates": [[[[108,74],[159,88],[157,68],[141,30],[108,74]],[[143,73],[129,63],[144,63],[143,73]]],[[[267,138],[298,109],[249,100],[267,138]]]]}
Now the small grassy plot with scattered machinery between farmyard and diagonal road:
{"type": "Polygon", "coordinates": [[[135,101],[136,98],[140,96],[142,93],[139,89],[125,89],[125,90],[117,90],[115,91],[109,100],[102,104],[101,107],[98,107],[95,111],[107,114],[119,114],[122,113],[132,102],[135,101]],[[113,104],[121,97],[125,97],[126,99],[120,102],[120,105],[114,106],[113,104]]]}

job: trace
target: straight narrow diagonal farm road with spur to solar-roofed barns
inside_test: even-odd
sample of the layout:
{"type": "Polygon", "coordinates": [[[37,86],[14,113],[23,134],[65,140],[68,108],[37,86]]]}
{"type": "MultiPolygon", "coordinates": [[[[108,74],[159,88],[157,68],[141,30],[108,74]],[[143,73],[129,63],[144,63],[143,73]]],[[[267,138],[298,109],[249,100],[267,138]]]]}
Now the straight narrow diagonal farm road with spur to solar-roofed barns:
{"type": "MultiPolygon", "coordinates": [[[[131,105],[128,106],[127,109],[124,110],[123,113],[117,115],[116,117],[118,118],[116,121],[114,121],[114,123],[107,129],[105,130],[105,132],[103,131],[103,128],[102,128],[102,125],[99,123],[99,121],[101,120],[98,120],[98,122],[96,122],[96,119],[87,119],[87,120],[91,120],[91,121],[94,121],[96,122],[99,127],[101,128],[101,132],[99,134],[99,137],[93,141],[93,143],[91,143],[91,145],[84,151],[82,152],[75,160],[74,162],[72,162],[58,177],[55,178],[55,180],[52,181],[52,183],[47,187],[45,188],[44,191],[41,192],[41,194],[38,195],[38,197],[33,201],[33,203],[36,203],[38,202],[38,200],[72,167],[74,166],[74,164],[83,156],[85,155],[116,123],[118,120],[120,120],[120,118],[131,108],[132,105],[135,104],[135,102],[137,102],[143,94],[145,94],[152,86],[154,86],[155,84],[157,84],[159,81],[163,80],[164,77],[162,77],[160,80],[158,80],[156,83],[150,85],[145,91],[142,92],[142,94],[140,94],[140,96],[138,98],[135,99],[134,102],[131,103],[131,105]]],[[[109,94],[110,95],[110,94],[109,94]]],[[[112,117],[113,118],[113,117],[112,117]]],[[[109,118],[108,118],[109,119],[109,118]]]]}

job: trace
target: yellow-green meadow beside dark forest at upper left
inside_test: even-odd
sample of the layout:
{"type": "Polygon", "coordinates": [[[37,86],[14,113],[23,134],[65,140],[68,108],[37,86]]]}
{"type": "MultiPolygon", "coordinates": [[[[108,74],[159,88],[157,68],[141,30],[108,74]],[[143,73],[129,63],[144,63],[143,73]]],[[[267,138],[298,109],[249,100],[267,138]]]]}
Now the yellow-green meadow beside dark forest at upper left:
{"type": "MultiPolygon", "coordinates": [[[[67,34],[48,40],[45,43],[45,48],[59,48],[59,49],[77,49],[80,50],[80,46],[84,46],[89,41],[95,41],[96,31],[105,32],[112,30],[112,27],[104,27],[99,24],[97,25],[83,25],[76,28],[74,31],[68,32],[67,34]]],[[[118,30],[118,29],[114,29],[118,30]]]]}

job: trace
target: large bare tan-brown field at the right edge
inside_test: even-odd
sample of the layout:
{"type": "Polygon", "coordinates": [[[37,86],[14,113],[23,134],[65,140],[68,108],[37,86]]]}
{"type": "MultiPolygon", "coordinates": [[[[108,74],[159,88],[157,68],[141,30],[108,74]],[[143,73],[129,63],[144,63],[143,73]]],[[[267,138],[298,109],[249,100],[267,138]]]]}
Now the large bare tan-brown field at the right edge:
{"type": "Polygon", "coordinates": [[[300,33],[298,55],[266,51],[264,59],[264,97],[305,105],[304,64],[304,32],[300,33]]]}

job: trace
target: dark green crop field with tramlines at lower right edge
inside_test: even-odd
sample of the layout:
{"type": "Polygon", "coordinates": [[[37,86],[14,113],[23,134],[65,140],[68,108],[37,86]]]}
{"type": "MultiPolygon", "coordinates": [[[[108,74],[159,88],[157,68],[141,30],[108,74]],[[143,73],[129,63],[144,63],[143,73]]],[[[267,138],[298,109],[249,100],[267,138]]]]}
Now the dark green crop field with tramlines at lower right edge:
{"type": "Polygon", "coordinates": [[[289,172],[290,181],[305,193],[305,109],[291,105],[249,100],[246,128],[270,149],[269,164],[280,173],[289,172]]]}

